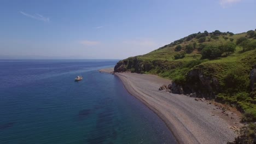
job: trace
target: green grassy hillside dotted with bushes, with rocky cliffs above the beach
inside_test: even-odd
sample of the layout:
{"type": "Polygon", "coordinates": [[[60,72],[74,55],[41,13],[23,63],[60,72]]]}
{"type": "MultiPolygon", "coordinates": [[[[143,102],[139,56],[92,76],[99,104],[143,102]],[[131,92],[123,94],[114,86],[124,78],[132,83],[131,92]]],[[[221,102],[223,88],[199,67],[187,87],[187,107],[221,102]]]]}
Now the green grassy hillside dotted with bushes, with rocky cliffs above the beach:
{"type": "MultiPolygon", "coordinates": [[[[256,67],[256,31],[240,34],[205,31],[146,55],[124,59],[114,70],[166,77],[181,87],[182,93],[195,92],[197,97],[234,106],[244,113],[243,122],[253,123],[256,84],[253,89],[249,78],[253,67],[256,67]]],[[[245,137],[251,142],[256,125],[249,125],[245,137]]]]}

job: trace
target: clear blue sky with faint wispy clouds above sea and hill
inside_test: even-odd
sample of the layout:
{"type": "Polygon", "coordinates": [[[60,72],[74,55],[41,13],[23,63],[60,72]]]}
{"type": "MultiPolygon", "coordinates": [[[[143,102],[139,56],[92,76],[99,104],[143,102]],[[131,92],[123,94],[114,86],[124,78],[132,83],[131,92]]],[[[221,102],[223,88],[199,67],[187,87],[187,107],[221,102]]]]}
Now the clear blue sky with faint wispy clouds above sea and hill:
{"type": "Polygon", "coordinates": [[[256,0],[0,1],[0,59],[124,59],[189,34],[256,28],[256,0]]]}

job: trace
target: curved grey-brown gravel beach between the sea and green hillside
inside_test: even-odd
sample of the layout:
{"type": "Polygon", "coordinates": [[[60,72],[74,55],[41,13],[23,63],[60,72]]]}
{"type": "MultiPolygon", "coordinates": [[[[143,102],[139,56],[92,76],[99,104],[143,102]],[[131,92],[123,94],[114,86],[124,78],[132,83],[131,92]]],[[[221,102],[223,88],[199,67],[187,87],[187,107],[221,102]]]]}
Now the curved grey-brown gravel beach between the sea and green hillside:
{"type": "MultiPolygon", "coordinates": [[[[178,143],[226,143],[237,136],[232,122],[216,115],[216,106],[185,95],[158,91],[171,81],[155,75],[115,73],[127,91],[152,109],[172,131],[178,143]]],[[[221,112],[220,112],[221,113],[221,112]]],[[[236,119],[238,121],[238,119],[236,119]]]]}

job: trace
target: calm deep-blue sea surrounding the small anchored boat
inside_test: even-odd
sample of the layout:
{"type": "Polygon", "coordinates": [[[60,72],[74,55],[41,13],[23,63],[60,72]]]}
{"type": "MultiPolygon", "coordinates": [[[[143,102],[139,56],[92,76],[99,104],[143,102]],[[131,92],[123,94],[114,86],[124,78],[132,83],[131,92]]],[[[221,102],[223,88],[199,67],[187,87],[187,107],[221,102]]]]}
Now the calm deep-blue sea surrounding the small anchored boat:
{"type": "Polygon", "coordinates": [[[1,60],[0,143],[176,143],[117,76],[98,73],[116,62],[1,60]]]}

